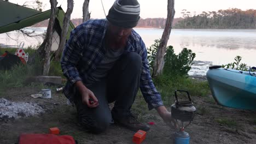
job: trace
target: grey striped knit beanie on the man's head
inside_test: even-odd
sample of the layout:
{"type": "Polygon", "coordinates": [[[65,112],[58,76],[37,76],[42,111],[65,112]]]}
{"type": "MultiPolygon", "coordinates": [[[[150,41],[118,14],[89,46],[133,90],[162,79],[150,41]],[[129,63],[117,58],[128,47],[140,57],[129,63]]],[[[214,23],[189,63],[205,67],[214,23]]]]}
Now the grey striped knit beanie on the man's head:
{"type": "Polygon", "coordinates": [[[108,11],[107,20],[115,26],[132,28],[139,21],[137,0],[116,0],[108,11]]]}

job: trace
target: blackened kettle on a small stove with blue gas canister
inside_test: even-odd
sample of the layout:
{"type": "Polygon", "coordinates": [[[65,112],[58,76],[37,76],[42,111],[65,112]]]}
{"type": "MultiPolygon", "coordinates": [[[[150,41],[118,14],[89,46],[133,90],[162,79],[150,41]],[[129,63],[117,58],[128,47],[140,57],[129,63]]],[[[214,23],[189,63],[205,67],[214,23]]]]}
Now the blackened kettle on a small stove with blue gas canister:
{"type": "Polygon", "coordinates": [[[193,106],[193,102],[190,98],[189,92],[184,90],[175,90],[175,103],[171,106],[173,127],[176,129],[174,133],[174,143],[175,144],[189,144],[189,134],[184,131],[185,127],[193,121],[195,116],[196,108],[193,106]],[[178,100],[177,92],[185,92],[188,95],[189,100],[178,100]],[[184,123],[187,123],[184,126],[184,123]]]}

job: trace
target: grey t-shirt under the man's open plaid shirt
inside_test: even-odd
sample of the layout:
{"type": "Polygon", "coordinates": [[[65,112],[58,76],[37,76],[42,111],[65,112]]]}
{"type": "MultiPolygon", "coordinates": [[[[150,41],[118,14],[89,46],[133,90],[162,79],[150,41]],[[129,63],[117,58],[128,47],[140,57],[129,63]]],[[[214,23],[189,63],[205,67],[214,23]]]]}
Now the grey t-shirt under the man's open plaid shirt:
{"type": "Polygon", "coordinates": [[[102,59],[101,63],[97,65],[96,70],[88,77],[87,84],[100,81],[108,75],[108,71],[113,68],[115,62],[123,54],[124,49],[113,50],[109,47],[106,47],[106,54],[102,59]]]}

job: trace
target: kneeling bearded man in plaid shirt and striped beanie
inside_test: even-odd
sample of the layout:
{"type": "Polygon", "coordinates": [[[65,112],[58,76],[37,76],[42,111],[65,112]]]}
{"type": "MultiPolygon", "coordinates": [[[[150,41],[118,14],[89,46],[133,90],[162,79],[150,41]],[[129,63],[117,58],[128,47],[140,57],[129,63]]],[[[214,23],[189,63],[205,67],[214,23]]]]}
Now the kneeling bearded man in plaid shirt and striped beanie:
{"type": "Polygon", "coordinates": [[[68,79],[64,93],[77,107],[78,122],[94,133],[113,121],[133,131],[149,130],[130,111],[139,87],[149,110],[156,109],[165,122],[171,120],[150,77],[146,46],[132,29],[139,12],[137,0],[115,1],[107,20],[76,27],[63,51],[61,67],[68,79]]]}

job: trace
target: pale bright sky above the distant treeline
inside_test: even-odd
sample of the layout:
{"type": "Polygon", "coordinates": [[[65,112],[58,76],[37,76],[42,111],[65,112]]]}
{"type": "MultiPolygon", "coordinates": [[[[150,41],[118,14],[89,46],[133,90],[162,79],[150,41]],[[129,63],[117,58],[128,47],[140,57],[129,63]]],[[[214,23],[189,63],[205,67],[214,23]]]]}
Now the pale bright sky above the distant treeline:
{"type": "MultiPolygon", "coordinates": [[[[24,2],[34,0],[9,0],[12,3],[18,3],[23,5],[24,2]]],[[[40,0],[44,4],[44,10],[50,9],[49,0],[40,0]]],[[[137,0],[141,5],[141,18],[156,18],[167,17],[167,0],[137,0]]],[[[67,9],[67,0],[58,0],[58,5],[63,10],[67,9]]],[[[71,19],[83,18],[83,2],[84,0],[74,0],[74,9],[71,15],[71,19]]],[[[114,3],[114,0],[102,0],[106,15],[109,8],[114,3]]],[[[256,9],[256,0],[176,0],[174,2],[174,9],[176,11],[174,17],[182,17],[182,10],[186,9],[196,14],[201,14],[202,11],[217,11],[219,9],[238,8],[242,10],[256,9]]],[[[89,11],[91,12],[91,18],[102,19],[105,17],[102,8],[101,0],[90,0],[89,11]]]]}

